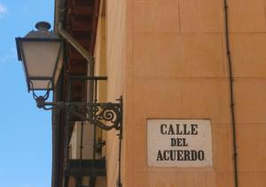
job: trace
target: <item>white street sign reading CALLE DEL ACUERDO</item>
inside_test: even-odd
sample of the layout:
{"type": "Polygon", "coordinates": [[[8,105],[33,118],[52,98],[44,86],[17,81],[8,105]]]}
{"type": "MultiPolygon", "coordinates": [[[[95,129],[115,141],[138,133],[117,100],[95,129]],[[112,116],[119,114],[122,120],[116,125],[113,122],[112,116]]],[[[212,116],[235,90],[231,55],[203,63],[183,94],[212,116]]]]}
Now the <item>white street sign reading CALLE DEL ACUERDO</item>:
{"type": "Polygon", "coordinates": [[[148,120],[148,166],[212,167],[212,134],[208,120],[148,120]]]}

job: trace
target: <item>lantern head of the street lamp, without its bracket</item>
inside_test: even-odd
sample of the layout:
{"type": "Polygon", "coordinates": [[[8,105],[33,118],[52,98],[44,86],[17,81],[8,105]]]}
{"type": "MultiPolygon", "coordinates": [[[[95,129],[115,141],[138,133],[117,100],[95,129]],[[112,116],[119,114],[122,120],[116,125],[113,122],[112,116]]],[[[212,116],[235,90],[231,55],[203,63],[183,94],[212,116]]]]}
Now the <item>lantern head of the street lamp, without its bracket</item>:
{"type": "Polygon", "coordinates": [[[64,40],[49,31],[51,26],[45,21],[38,22],[35,27],[37,31],[33,30],[23,38],[16,38],[27,90],[53,90],[56,70],[62,61],[64,40]]]}

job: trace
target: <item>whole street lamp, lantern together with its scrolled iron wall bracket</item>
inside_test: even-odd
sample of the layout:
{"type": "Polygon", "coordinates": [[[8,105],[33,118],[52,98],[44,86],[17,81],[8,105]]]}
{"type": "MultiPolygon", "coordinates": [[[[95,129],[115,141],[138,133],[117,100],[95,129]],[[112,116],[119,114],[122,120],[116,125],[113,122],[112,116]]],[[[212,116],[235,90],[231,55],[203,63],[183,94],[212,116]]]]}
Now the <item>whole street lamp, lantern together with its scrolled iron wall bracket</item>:
{"type": "MultiPolygon", "coordinates": [[[[27,90],[33,92],[37,107],[44,110],[66,110],[81,121],[89,121],[101,129],[121,131],[121,98],[118,103],[46,102],[50,91],[54,90],[62,65],[65,40],[49,30],[51,25],[48,22],[38,22],[35,27],[36,31],[30,31],[22,38],[17,37],[16,43],[18,58],[22,61],[26,76],[27,90]],[[35,90],[46,90],[46,94],[37,96],[35,90]],[[82,113],[79,112],[81,110],[82,113]],[[106,122],[109,125],[106,125],[106,122]]],[[[84,77],[83,80],[95,81],[98,78],[84,77]]]]}

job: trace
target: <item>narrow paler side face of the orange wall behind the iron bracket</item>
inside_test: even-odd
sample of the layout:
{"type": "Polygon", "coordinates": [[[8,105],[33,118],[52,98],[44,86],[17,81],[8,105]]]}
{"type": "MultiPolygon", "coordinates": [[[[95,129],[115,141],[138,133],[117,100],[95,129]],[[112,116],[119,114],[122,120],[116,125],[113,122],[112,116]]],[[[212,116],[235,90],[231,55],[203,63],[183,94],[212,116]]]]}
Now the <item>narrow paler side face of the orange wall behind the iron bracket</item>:
{"type": "MultiPolygon", "coordinates": [[[[125,82],[125,11],[126,1],[106,1],[106,70],[107,101],[121,97],[125,82]]],[[[115,130],[106,133],[107,186],[116,186],[118,176],[118,136],[115,130]]]]}

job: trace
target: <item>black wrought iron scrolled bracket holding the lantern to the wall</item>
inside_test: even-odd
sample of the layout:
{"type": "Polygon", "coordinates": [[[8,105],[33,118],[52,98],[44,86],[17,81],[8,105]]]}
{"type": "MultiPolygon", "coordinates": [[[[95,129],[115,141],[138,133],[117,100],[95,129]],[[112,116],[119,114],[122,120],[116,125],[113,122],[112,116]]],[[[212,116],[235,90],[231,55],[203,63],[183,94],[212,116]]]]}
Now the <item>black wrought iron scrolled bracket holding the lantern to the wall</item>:
{"type": "Polygon", "coordinates": [[[85,103],[85,102],[46,102],[47,97],[35,97],[38,108],[44,110],[66,110],[73,113],[81,121],[88,121],[100,129],[120,130],[122,123],[122,97],[117,103],[85,103]]]}

